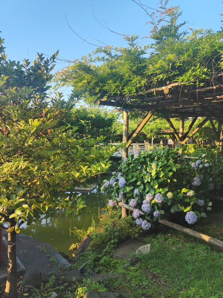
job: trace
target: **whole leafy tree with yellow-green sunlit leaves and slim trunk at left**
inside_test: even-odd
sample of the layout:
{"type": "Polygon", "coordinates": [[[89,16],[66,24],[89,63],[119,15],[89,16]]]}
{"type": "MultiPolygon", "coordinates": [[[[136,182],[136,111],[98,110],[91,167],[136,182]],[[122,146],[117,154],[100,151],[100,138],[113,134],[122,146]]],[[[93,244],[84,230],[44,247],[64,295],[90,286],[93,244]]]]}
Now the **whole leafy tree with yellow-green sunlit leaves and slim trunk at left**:
{"type": "Polygon", "coordinates": [[[3,42],[0,39],[0,226],[8,232],[6,293],[14,298],[20,226],[58,208],[77,213],[84,202],[71,195],[74,182],[105,172],[116,148],[102,147],[102,138],[77,139],[77,128],[61,125],[74,103],[62,94],[47,96],[57,53],[49,59],[38,54],[33,65],[29,60],[20,64],[7,60],[3,42]]]}

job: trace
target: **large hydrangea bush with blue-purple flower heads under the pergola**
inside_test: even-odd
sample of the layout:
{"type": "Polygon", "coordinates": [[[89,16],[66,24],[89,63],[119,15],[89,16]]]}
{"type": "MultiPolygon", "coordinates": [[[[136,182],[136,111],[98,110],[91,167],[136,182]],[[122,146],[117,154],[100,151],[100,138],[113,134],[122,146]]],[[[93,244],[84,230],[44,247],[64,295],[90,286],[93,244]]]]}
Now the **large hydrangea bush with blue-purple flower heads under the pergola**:
{"type": "Polygon", "coordinates": [[[119,172],[112,173],[112,183],[104,182],[103,191],[135,208],[133,217],[142,229],[148,230],[154,221],[176,212],[194,224],[211,210],[207,197],[214,184],[211,161],[205,155],[193,162],[182,161],[178,151],[162,147],[137,151],[122,160],[119,172]]]}

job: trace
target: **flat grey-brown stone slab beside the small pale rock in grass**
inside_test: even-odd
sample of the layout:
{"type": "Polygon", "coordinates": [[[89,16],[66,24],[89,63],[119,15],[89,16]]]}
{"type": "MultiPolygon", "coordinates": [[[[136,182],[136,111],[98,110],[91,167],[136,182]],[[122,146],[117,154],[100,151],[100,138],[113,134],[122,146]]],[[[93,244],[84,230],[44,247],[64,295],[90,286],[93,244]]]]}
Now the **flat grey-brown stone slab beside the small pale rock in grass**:
{"type": "Polygon", "coordinates": [[[114,248],[113,256],[118,260],[128,259],[131,254],[135,254],[136,250],[143,245],[145,245],[145,243],[135,239],[127,240],[114,248]]]}

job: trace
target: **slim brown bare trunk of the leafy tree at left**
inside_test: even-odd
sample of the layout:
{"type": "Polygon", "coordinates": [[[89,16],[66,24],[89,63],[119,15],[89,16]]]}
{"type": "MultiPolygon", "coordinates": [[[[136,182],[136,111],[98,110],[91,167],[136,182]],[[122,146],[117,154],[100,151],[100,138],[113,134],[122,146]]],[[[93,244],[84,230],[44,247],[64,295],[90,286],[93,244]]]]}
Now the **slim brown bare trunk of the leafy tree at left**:
{"type": "MultiPolygon", "coordinates": [[[[15,226],[15,221],[12,220],[8,223],[8,228],[15,226]]],[[[17,297],[17,266],[16,266],[16,232],[15,229],[9,233],[8,232],[8,276],[6,282],[6,297],[16,298],[17,297]]]]}

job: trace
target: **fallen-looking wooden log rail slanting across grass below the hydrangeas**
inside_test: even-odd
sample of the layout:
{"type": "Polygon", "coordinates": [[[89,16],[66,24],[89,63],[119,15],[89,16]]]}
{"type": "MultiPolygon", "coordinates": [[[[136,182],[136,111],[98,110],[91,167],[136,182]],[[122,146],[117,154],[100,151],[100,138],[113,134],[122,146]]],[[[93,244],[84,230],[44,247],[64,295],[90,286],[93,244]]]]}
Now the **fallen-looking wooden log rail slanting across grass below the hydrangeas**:
{"type": "Polygon", "coordinates": [[[223,248],[223,241],[221,241],[221,240],[218,240],[218,239],[212,238],[210,236],[207,236],[205,234],[202,234],[202,233],[193,231],[191,229],[185,228],[185,227],[180,226],[178,224],[174,224],[174,223],[172,223],[170,221],[167,221],[166,219],[158,220],[158,222],[160,224],[164,224],[165,226],[169,226],[170,228],[173,228],[175,230],[178,230],[180,232],[186,233],[186,234],[188,234],[190,236],[193,236],[195,238],[198,238],[200,240],[206,241],[208,243],[211,243],[213,245],[216,245],[218,247],[223,248]]]}

